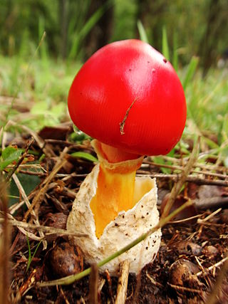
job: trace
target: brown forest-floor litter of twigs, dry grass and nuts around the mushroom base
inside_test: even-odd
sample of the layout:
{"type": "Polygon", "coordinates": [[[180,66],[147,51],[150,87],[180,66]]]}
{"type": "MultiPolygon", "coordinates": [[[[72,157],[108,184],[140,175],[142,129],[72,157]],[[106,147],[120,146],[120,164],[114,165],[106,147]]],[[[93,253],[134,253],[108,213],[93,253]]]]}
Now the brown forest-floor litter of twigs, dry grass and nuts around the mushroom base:
{"type": "MultiPolygon", "coordinates": [[[[68,242],[66,219],[96,155],[88,139],[71,141],[69,123],[39,133],[24,126],[23,130],[24,135],[9,140],[6,136],[4,142],[8,150],[3,154],[4,177],[14,179],[19,199],[4,217],[6,183],[1,187],[0,233],[4,236],[6,226],[10,227],[11,242],[6,238],[4,247],[1,241],[0,275],[9,283],[6,280],[0,287],[9,288],[9,303],[92,303],[91,299],[114,303],[119,297],[118,278],[110,278],[108,272],[99,274],[95,266],[90,274],[93,281],[86,276],[71,285],[38,287],[40,282],[88,268],[80,248],[68,242]],[[21,173],[39,179],[29,193],[20,182],[21,173]],[[2,267],[6,261],[7,270],[2,267]]],[[[163,226],[154,263],[138,277],[129,275],[126,303],[228,303],[228,170],[220,159],[199,162],[201,151],[190,161],[192,148],[184,155],[177,150],[170,159],[162,157],[162,162],[147,157],[138,170],[140,175],[157,178],[160,211],[170,212],[186,201],[193,204],[163,226]]]]}

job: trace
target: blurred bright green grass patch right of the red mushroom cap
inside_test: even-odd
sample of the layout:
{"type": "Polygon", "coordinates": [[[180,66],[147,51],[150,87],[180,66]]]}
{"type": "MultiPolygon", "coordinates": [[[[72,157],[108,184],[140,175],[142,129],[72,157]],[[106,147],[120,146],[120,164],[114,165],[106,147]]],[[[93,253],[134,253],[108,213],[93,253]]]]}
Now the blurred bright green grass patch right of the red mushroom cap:
{"type": "MultiPolygon", "coordinates": [[[[197,73],[185,90],[188,118],[200,132],[212,132],[221,140],[222,126],[227,121],[227,72],[211,70],[206,79],[197,73]]],[[[219,144],[222,144],[220,141],[219,144]]]]}

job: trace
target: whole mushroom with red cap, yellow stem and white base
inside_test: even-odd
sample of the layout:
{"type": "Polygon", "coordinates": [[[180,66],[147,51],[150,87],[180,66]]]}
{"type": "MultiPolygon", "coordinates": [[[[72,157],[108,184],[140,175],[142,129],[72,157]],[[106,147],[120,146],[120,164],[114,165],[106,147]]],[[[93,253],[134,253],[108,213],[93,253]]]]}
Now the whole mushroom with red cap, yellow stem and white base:
{"type": "MultiPolygon", "coordinates": [[[[73,123],[95,138],[99,159],[81,185],[67,224],[90,234],[90,241],[77,241],[92,263],[157,224],[155,179],[135,178],[135,173],[145,155],[167,154],[180,140],[185,94],[167,59],[131,39],[110,43],[88,59],[71,85],[68,110],[73,123]]],[[[156,231],[146,244],[130,249],[130,256],[123,255],[131,272],[155,258],[160,235],[156,231]]],[[[108,264],[111,273],[120,261],[108,264]]]]}

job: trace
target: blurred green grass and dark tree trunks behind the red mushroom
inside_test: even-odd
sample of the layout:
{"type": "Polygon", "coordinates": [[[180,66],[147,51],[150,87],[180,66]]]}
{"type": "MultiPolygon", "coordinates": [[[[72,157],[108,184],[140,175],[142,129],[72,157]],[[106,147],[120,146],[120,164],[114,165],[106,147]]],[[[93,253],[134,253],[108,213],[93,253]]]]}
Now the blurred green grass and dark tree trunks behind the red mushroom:
{"type": "Polygon", "coordinates": [[[140,38],[177,70],[191,122],[185,134],[209,130],[221,144],[227,20],[227,0],[0,0],[0,127],[69,121],[68,90],[83,62],[109,42],[140,38]]]}

